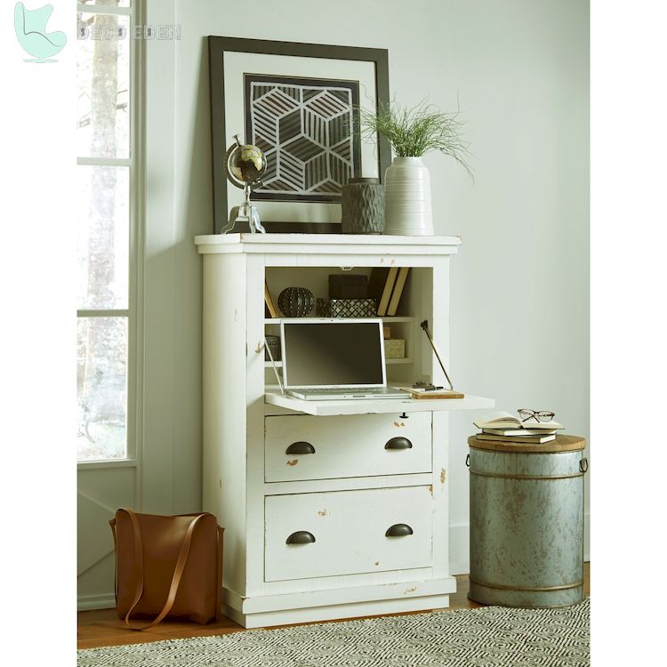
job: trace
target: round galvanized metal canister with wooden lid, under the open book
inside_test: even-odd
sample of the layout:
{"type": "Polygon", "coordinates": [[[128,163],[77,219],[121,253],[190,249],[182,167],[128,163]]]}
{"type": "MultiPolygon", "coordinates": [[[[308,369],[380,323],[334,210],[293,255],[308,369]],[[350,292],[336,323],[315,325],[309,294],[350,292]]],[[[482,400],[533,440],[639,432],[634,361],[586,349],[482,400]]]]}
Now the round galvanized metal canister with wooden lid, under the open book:
{"type": "Polygon", "coordinates": [[[542,445],[468,438],[470,592],[485,605],[583,599],[584,438],[542,445]]]}

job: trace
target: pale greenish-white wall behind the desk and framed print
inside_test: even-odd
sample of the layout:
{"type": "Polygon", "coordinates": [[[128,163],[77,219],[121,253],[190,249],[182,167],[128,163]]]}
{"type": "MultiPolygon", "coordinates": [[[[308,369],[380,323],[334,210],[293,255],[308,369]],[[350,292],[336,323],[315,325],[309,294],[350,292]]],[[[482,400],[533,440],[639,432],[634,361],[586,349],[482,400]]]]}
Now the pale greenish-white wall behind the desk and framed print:
{"type": "MultiPolygon", "coordinates": [[[[173,139],[173,192],[171,175],[167,187],[159,176],[165,158],[151,165],[149,151],[149,202],[171,213],[158,231],[160,220],[149,211],[147,278],[157,295],[156,277],[164,276],[168,292],[161,297],[165,308],[149,313],[147,333],[166,342],[169,374],[166,384],[147,388],[159,397],[159,409],[147,424],[146,510],[197,509],[201,493],[201,269],[192,237],[213,225],[208,35],[387,48],[390,91],[402,103],[428,96],[454,110],[460,100],[474,185],[451,159],[425,158],[436,233],[463,239],[453,260],[451,375],[462,390],[496,398],[499,408],[550,408],[568,432],[588,436],[588,3],[151,4],[173,10],[181,40],[174,44],[173,87],[170,74],[149,94],[153,155],[161,154],[157,144],[164,149],[173,139]],[[172,108],[173,138],[156,136],[151,118],[168,128],[164,115],[172,108]],[[163,240],[154,243],[151,233],[163,240]],[[171,429],[161,469],[150,467],[166,435],[157,436],[166,428],[159,414],[171,429]]],[[[167,72],[171,67],[165,60],[167,72]]],[[[471,414],[453,419],[454,573],[468,567],[470,421],[471,414]]]]}

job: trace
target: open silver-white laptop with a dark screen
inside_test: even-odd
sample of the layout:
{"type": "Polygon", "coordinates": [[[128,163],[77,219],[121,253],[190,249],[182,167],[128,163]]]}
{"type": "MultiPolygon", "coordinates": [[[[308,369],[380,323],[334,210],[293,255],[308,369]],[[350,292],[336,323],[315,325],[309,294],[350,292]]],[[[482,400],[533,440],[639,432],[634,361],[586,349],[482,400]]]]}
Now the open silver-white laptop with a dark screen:
{"type": "Polygon", "coordinates": [[[387,387],[380,318],[280,323],[285,393],[305,400],[409,398],[387,387]]]}

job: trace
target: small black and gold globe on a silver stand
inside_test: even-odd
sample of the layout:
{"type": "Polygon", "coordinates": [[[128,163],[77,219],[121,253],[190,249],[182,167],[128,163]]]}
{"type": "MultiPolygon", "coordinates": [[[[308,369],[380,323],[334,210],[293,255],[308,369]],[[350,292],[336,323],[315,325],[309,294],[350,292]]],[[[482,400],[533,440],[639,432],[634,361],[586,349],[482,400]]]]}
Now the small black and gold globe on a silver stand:
{"type": "Polygon", "coordinates": [[[229,213],[229,225],[222,230],[223,234],[249,230],[253,234],[266,234],[261,226],[260,214],[250,202],[253,188],[261,186],[261,177],[266,173],[266,157],[256,146],[242,144],[238,134],[234,135],[234,144],[227,150],[225,171],[229,182],[244,191],[243,204],[234,206],[229,213]],[[245,225],[248,227],[245,228],[245,225]]]}

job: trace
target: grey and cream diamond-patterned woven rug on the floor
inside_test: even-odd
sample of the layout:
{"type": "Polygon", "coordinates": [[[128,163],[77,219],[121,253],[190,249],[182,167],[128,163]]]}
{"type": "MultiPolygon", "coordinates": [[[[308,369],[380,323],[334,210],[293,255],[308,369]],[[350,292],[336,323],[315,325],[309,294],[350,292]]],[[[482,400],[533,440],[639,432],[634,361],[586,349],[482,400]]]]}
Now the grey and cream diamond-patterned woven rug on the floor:
{"type": "Polygon", "coordinates": [[[574,607],[480,607],[317,623],[78,652],[78,667],[579,667],[589,599],[574,607]]]}

